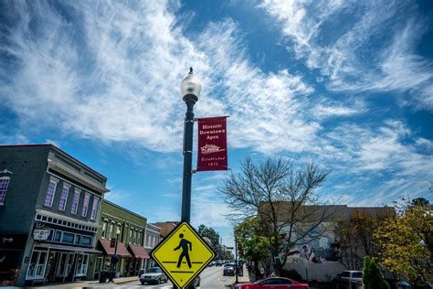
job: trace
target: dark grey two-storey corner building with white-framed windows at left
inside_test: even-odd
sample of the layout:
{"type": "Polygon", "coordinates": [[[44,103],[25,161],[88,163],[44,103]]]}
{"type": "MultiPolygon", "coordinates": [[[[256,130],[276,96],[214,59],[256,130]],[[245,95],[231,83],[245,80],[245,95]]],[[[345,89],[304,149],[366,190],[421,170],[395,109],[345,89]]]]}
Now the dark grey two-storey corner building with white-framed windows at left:
{"type": "Polygon", "coordinates": [[[55,145],[1,145],[0,284],[88,279],[106,181],[55,145]]]}

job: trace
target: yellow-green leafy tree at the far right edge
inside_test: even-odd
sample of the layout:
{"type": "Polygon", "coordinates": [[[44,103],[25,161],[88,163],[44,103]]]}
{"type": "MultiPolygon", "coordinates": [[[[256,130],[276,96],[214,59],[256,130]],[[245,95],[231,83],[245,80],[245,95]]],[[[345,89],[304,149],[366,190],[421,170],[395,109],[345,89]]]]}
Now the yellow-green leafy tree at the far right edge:
{"type": "Polygon", "coordinates": [[[375,231],[375,242],[381,263],[390,271],[407,275],[412,281],[433,278],[431,205],[402,198],[396,203],[396,216],[385,219],[375,231]]]}

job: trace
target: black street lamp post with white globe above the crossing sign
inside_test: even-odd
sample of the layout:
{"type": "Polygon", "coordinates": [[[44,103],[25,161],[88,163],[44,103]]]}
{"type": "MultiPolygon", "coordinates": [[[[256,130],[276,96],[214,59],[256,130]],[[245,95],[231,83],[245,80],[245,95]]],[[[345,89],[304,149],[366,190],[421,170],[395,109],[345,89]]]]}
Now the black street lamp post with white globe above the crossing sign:
{"type": "Polygon", "coordinates": [[[182,187],[182,221],[191,219],[191,181],[193,176],[194,105],[198,101],[201,84],[193,75],[193,68],[181,82],[181,94],[186,104],[184,124],[184,179],[182,187]]]}

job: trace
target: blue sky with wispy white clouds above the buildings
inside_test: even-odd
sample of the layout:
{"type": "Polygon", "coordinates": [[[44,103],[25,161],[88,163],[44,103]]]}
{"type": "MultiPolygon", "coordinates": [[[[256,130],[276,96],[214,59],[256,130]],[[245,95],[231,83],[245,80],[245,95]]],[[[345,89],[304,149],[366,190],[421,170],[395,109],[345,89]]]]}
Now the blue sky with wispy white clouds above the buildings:
{"type": "Polygon", "coordinates": [[[432,201],[432,21],[428,0],[2,0],[0,144],[55,144],[109,200],[178,220],[193,67],[195,117],[229,116],[230,171],[193,176],[191,223],[223,243],[218,187],[246,157],[331,169],[323,201],[432,201]]]}

